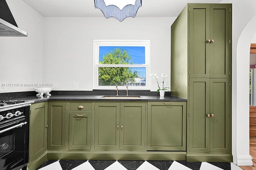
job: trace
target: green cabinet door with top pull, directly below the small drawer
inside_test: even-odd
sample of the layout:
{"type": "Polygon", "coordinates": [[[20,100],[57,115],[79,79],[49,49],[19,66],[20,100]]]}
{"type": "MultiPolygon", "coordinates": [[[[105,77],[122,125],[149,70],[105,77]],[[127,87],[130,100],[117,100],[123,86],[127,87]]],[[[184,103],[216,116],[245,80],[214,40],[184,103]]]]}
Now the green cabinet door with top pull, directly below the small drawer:
{"type": "Polygon", "coordinates": [[[69,114],[69,149],[91,149],[91,113],[69,114]]]}

